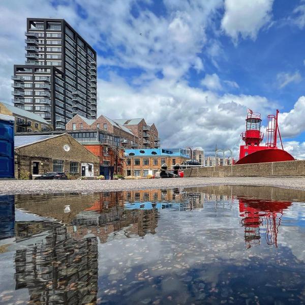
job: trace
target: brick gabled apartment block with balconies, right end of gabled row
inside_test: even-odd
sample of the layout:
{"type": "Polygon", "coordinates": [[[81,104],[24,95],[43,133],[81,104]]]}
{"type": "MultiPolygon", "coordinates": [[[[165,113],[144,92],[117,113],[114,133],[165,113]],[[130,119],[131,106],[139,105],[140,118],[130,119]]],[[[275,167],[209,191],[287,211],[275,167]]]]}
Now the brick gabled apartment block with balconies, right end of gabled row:
{"type": "Polygon", "coordinates": [[[146,123],[144,118],[115,119],[116,123],[130,129],[138,137],[138,148],[159,148],[160,141],[154,123],[146,123]]]}

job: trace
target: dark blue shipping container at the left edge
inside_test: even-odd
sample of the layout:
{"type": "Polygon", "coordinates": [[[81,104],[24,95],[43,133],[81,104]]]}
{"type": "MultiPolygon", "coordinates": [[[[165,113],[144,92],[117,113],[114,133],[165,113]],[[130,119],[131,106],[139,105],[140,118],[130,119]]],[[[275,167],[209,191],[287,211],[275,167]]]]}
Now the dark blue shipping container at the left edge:
{"type": "Polygon", "coordinates": [[[0,114],[0,178],[14,176],[14,117],[0,114]]]}

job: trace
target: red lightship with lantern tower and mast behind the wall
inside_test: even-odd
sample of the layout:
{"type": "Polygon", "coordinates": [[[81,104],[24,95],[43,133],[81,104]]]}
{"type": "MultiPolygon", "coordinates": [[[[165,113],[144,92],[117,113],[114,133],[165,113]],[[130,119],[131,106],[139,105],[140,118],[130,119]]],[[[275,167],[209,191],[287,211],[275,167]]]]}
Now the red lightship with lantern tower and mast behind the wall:
{"type": "Polygon", "coordinates": [[[293,161],[294,158],[283,148],[282,138],[278,126],[278,114],[267,116],[266,145],[260,146],[264,134],[260,131],[261,115],[248,109],[246,118],[246,131],[241,133],[241,138],[245,141],[239,149],[239,160],[235,164],[262,163],[293,161]],[[277,147],[278,134],[280,136],[282,149],[277,147]]]}

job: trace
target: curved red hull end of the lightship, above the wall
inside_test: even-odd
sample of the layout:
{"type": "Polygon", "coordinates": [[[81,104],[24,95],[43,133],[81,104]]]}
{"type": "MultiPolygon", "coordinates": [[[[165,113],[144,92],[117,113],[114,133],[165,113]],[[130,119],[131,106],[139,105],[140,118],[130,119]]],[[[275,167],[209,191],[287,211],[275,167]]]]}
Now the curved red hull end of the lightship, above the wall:
{"type": "Polygon", "coordinates": [[[235,164],[264,163],[294,161],[294,158],[287,151],[278,148],[266,148],[257,150],[246,157],[239,159],[235,164]]]}

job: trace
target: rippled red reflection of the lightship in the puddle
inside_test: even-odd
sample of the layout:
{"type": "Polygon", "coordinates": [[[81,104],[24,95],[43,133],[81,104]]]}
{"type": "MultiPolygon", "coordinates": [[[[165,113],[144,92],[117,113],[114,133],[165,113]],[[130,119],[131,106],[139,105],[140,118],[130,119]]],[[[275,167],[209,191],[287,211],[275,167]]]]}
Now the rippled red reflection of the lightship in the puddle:
{"type": "Polygon", "coordinates": [[[245,227],[247,249],[260,244],[260,227],[262,226],[265,226],[267,244],[278,247],[278,232],[283,210],[290,205],[291,202],[288,201],[239,198],[241,225],[245,227]]]}

